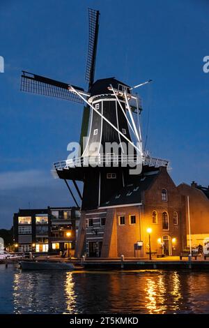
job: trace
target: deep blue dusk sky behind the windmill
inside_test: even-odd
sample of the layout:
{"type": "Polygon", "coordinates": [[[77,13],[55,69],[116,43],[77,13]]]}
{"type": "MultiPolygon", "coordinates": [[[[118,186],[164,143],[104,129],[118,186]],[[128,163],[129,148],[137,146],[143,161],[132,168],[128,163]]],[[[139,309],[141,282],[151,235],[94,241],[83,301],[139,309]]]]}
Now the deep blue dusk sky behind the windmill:
{"type": "Polygon", "coordinates": [[[20,72],[86,88],[88,7],[100,10],[96,78],[115,76],[140,89],[143,131],[152,156],[171,161],[176,184],[209,184],[207,0],[1,0],[0,228],[18,208],[70,206],[50,173],[79,139],[82,106],[20,92],[20,72]]]}

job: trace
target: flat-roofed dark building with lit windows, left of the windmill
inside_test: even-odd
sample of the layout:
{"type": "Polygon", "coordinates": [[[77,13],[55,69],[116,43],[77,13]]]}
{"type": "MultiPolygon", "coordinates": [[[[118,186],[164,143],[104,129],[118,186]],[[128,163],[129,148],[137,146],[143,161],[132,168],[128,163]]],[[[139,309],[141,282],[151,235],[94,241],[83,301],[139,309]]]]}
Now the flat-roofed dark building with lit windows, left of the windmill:
{"type": "Polygon", "coordinates": [[[13,217],[15,251],[59,253],[69,248],[72,255],[78,221],[76,207],[19,209],[13,217]]]}

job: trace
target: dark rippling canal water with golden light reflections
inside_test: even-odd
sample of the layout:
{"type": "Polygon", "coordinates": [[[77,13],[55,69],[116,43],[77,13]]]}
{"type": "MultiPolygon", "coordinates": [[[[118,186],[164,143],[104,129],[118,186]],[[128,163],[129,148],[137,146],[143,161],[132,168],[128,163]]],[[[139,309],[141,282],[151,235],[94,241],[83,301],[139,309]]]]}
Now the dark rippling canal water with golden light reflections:
{"type": "Polygon", "coordinates": [[[0,264],[0,313],[208,313],[209,271],[21,271],[0,264]]]}

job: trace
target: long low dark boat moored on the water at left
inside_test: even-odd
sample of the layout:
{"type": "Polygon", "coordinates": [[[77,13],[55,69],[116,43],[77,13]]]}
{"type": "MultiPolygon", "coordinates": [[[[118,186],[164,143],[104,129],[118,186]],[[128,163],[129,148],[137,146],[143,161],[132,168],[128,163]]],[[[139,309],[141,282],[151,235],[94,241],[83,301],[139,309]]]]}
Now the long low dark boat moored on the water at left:
{"type": "Polygon", "coordinates": [[[22,270],[74,270],[72,263],[52,262],[52,261],[21,261],[22,270]]]}

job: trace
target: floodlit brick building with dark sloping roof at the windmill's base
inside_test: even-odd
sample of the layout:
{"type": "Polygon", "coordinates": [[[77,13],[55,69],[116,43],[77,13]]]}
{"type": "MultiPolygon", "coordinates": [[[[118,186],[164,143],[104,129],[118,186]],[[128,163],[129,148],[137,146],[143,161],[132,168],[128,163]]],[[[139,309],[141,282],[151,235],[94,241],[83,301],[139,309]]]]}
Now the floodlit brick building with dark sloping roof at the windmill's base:
{"type": "Polygon", "coordinates": [[[147,257],[148,228],[152,252],[179,255],[186,245],[184,198],[167,168],[152,167],[134,179],[98,209],[82,211],[78,257],[147,257]]]}

